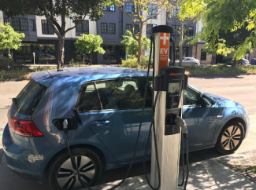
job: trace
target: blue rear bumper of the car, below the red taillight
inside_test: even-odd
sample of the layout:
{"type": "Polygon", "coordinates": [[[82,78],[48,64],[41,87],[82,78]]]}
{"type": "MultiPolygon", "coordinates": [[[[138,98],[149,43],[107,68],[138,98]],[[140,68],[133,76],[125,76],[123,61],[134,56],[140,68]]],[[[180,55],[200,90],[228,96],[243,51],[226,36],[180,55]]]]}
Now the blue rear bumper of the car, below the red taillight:
{"type": "MultiPolygon", "coordinates": [[[[18,174],[20,177],[31,181],[42,182],[44,170],[47,163],[50,160],[50,153],[38,152],[39,150],[35,148],[35,141],[41,141],[42,145],[44,139],[39,137],[37,140],[33,141],[32,138],[26,138],[26,141],[30,141],[34,144],[34,147],[22,146],[20,144],[15,144],[9,133],[9,126],[6,125],[2,136],[3,150],[6,155],[7,166],[13,170],[14,173],[18,174]],[[43,155],[43,160],[35,161],[34,163],[29,162],[29,155],[43,155]]],[[[45,146],[45,150],[49,150],[49,145],[45,146]]],[[[40,148],[41,149],[41,148],[40,148]]],[[[52,149],[52,148],[51,148],[52,149]]],[[[49,152],[49,151],[48,151],[49,152]]]]}

